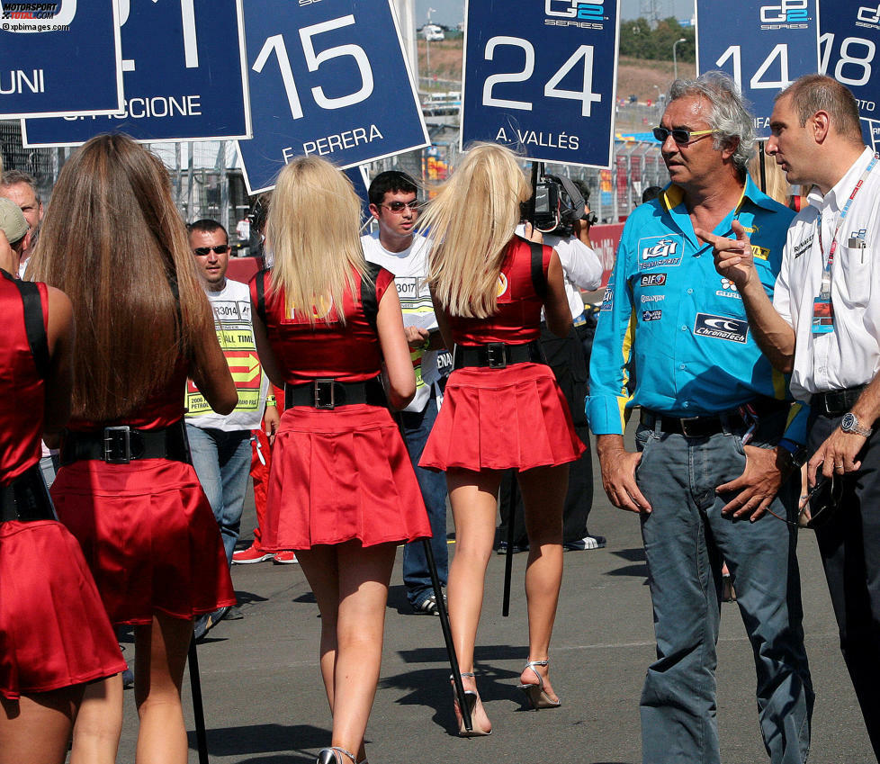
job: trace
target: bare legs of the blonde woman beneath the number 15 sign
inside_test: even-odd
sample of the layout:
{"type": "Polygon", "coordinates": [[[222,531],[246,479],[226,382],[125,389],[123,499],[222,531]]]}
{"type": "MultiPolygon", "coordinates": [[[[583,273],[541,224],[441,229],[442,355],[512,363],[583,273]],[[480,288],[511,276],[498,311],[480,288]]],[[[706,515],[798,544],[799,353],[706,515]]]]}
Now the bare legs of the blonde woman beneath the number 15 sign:
{"type": "Polygon", "coordinates": [[[365,758],[364,733],[379,683],[388,582],[396,544],[359,542],[297,551],[321,611],[321,674],[332,745],[365,758]]]}

